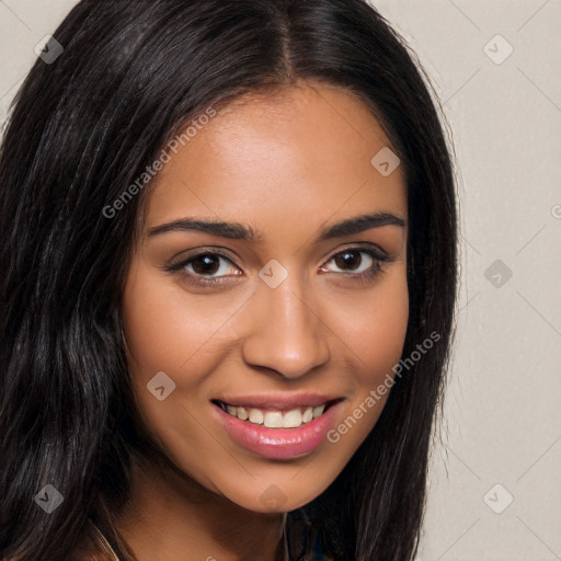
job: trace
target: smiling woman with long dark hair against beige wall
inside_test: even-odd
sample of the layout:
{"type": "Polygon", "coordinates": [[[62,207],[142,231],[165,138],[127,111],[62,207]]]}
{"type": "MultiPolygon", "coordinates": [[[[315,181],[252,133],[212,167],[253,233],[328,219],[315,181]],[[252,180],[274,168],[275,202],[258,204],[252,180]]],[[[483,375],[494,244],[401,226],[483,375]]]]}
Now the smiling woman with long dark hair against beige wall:
{"type": "Polygon", "coordinates": [[[0,558],[413,559],[457,282],[413,56],[363,0],[54,37],[0,162],[0,558]]]}

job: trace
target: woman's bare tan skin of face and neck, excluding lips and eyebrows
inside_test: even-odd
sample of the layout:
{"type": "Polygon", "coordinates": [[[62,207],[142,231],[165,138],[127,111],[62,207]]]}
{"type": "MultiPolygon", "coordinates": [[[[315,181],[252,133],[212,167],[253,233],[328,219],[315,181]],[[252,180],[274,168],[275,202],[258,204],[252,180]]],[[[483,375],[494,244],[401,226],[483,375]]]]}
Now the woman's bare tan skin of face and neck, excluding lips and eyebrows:
{"type": "Polygon", "coordinates": [[[382,176],[370,164],[385,146],[391,145],[357,98],[298,82],[230,103],[157,176],[123,298],[135,396],[165,458],[135,467],[134,506],[121,516],[139,560],[274,560],[284,513],[321,494],[376,424],[388,394],[337,443],[271,460],[231,440],[210,399],[320,391],[344,397],[340,424],[391,374],[408,325],[407,225],[314,242],[325,226],[367,213],[407,221],[402,167],[382,176]],[[248,225],[263,240],[148,236],[185,217],[248,225]],[[392,261],[360,282],[354,271],[376,262],[366,253],[334,259],[350,247],[381,249],[392,261]],[[193,262],[183,276],[163,270],[197,249],[231,260],[206,274],[225,277],[224,285],[190,283],[190,273],[205,276],[193,262]],[[273,259],[288,272],[276,288],[259,276],[273,259]],[[158,371],[175,383],[163,401],[147,390],[158,371]],[[262,500],[271,489],[282,492],[276,505],[262,500]]]}

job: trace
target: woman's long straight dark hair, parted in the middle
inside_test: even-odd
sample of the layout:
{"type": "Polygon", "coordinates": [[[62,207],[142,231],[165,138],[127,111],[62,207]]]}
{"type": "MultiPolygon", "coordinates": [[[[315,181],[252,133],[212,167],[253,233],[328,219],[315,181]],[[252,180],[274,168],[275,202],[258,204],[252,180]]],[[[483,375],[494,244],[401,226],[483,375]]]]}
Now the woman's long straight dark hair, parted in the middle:
{"type": "Polygon", "coordinates": [[[0,558],[67,559],[88,517],[127,557],[111,512],[148,445],[121,294],[149,185],[115,217],[106,209],[209,106],[313,79],[359,95],[402,161],[402,358],[431,333],[438,342],[403,368],[337,479],[288,514],[291,559],[317,523],[337,561],[412,559],[457,290],[450,147],[415,56],[365,0],[82,0],[54,37],[64,51],[34,64],[0,157],[0,558]],[[64,497],[49,514],[33,500],[46,484],[64,497]]]}

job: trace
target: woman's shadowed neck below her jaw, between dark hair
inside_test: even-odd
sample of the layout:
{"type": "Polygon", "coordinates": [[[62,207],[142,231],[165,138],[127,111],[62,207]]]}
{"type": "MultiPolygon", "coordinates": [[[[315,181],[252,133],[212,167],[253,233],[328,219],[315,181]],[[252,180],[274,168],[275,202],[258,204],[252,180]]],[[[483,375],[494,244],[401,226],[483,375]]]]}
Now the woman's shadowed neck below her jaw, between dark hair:
{"type": "Polygon", "coordinates": [[[286,515],[242,508],[171,462],[135,461],[117,529],[138,561],[284,559],[286,515]]]}

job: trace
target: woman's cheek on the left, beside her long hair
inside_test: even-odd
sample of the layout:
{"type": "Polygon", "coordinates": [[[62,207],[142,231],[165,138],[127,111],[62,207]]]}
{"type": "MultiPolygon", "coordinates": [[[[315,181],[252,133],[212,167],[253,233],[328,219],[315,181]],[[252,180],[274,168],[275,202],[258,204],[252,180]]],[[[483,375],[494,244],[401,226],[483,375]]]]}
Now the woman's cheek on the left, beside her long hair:
{"type": "Polygon", "coordinates": [[[187,296],[141,257],[131,264],[123,295],[127,358],[139,412],[159,437],[207,405],[197,398],[227,348],[220,327],[229,316],[222,299],[187,296]],[[152,391],[160,382],[161,401],[152,391]]]}

